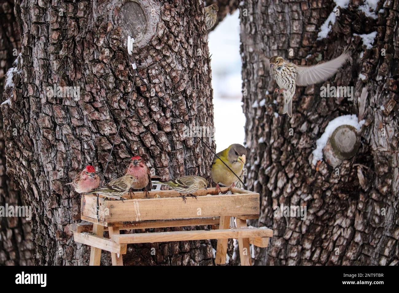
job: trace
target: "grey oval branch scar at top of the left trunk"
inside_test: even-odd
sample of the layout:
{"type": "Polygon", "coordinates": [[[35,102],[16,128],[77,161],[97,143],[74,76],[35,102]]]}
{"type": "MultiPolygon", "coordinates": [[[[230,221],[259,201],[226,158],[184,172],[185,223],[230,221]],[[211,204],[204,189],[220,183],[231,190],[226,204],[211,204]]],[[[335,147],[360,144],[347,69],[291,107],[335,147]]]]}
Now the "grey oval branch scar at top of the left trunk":
{"type": "Polygon", "coordinates": [[[143,47],[156,33],[160,7],[153,0],[124,1],[119,13],[119,25],[124,38],[134,38],[133,46],[143,47]]]}

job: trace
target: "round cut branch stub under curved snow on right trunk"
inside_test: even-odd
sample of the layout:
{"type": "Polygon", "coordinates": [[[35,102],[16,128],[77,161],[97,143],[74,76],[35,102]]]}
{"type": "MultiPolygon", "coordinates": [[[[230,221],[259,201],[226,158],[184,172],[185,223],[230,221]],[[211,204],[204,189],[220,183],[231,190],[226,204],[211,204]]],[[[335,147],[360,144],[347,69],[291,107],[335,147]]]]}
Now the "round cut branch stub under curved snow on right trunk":
{"type": "Polygon", "coordinates": [[[326,162],[336,167],[345,159],[353,157],[360,146],[360,139],[356,128],[350,125],[338,126],[323,149],[326,162]]]}

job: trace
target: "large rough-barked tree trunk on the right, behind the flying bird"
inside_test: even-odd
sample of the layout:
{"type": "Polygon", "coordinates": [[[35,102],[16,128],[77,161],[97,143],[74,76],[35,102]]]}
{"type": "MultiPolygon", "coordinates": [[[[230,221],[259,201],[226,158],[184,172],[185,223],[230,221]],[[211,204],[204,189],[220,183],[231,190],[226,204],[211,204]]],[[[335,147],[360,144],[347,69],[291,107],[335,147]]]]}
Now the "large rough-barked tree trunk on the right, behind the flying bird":
{"type": "Polygon", "coordinates": [[[357,5],[339,8],[332,31],[318,41],[334,6],[331,0],[245,0],[240,6],[247,187],[262,195],[258,223],[273,229],[269,248],[256,250],[257,265],[398,264],[399,1],[380,1],[375,19],[357,5]],[[370,48],[355,35],[373,31],[370,48]],[[350,62],[324,85],[354,86],[353,100],[321,98],[321,85],[297,87],[292,118],[275,114],[282,112],[282,99],[274,103],[267,93],[277,84],[253,46],[310,65],[337,57],[351,40],[350,62]],[[312,164],[312,151],[328,122],[344,114],[365,124],[356,155],[338,166],[337,175],[324,160],[312,164]],[[280,204],[306,206],[306,220],[273,216],[280,204]]]}

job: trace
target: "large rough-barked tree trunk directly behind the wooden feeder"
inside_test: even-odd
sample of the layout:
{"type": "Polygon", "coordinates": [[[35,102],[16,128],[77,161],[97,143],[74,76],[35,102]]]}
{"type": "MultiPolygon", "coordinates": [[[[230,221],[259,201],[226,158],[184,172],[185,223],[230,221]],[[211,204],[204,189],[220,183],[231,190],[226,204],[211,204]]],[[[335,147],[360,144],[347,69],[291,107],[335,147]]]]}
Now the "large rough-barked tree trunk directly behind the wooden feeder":
{"type": "MultiPolygon", "coordinates": [[[[2,106],[7,172],[32,206],[38,265],[88,263],[89,250],[75,244],[69,231],[70,223],[80,221],[80,195],[64,184],[87,164],[102,173],[107,162],[132,87],[126,31],[136,28],[137,18],[126,14],[132,7],[125,2],[15,3],[22,55],[15,85],[6,92],[10,103],[2,106]],[[80,98],[53,97],[47,90],[53,85],[80,87],[80,98]],[[12,135],[13,128],[18,135],[12,135]]],[[[211,151],[198,139],[185,138],[184,125],[154,96],[156,91],[186,123],[213,126],[203,5],[194,0],[160,5],[146,16],[155,26],[140,25],[141,33],[154,28],[154,36],[133,53],[151,88],[136,77],[105,181],[122,175],[132,154],[144,157],[163,178],[209,177],[211,151]]],[[[104,256],[102,264],[109,264],[104,256]]],[[[213,264],[212,246],[210,241],[132,245],[124,262],[213,264]]]]}

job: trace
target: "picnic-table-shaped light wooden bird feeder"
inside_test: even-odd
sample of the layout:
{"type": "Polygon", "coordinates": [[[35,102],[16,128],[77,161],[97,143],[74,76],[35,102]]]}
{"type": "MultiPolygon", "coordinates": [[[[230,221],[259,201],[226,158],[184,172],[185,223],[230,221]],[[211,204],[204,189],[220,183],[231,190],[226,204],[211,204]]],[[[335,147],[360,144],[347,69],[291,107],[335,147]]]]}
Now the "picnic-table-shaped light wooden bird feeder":
{"type": "MultiPolygon", "coordinates": [[[[223,187],[222,193],[228,190],[223,187]]],[[[247,228],[247,219],[259,218],[259,193],[233,188],[233,194],[215,194],[215,188],[200,190],[186,203],[180,194],[172,190],[150,191],[148,198],[143,192],[135,192],[124,201],[82,195],[81,219],[87,224],[71,224],[75,242],[91,246],[90,265],[100,265],[101,250],[111,252],[112,264],[123,265],[129,243],[153,243],[182,240],[217,239],[216,264],[226,263],[227,240],[236,238],[239,244],[241,265],[251,265],[249,245],[267,247],[273,231],[265,227],[247,228]],[[230,228],[230,218],[235,217],[237,227],[230,228]],[[180,226],[212,225],[214,230],[149,232],[119,234],[120,230],[166,228],[180,226]],[[103,237],[108,230],[109,238],[103,237]]]]}

